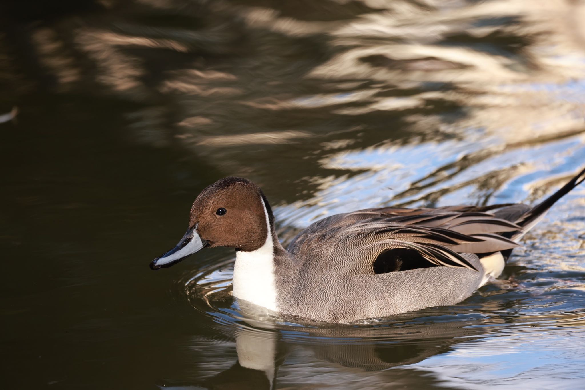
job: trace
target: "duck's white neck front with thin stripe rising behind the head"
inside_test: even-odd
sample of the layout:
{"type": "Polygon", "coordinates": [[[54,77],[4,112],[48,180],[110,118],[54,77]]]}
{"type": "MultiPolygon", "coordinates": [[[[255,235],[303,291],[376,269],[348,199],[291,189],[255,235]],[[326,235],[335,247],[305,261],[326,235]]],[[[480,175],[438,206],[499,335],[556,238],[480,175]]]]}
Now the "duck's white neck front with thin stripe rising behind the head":
{"type": "Polygon", "coordinates": [[[262,197],[267,235],[264,244],[253,251],[236,252],[233,267],[233,296],[269,310],[278,311],[275,257],[286,251],[274,231],[270,206],[262,197]]]}

